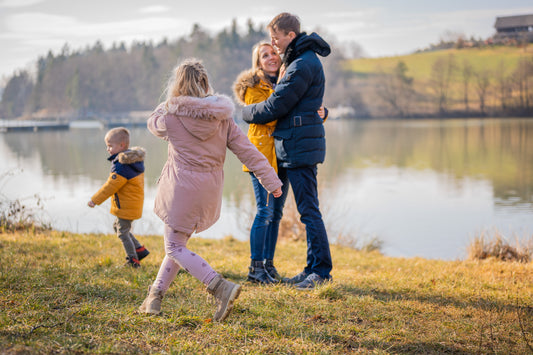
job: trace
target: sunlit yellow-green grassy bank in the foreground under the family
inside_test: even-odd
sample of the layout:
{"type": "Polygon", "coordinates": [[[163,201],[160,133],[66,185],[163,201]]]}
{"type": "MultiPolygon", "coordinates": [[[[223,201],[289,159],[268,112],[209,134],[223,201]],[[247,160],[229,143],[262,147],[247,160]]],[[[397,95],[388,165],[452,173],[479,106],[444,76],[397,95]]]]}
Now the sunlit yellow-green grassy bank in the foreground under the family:
{"type": "MultiPolygon", "coordinates": [[[[533,263],[391,258],[333,246],[334,282],[314,291],[245,283],[248,244],[193,238],[244,284],[234,312],[178,275],[162,316],[136,309],[163,258],[162,237],[139,270],[115,236],[0,234],[0,353],[509,353],[533,352],[533,263]]],[[[283,241],[277,266],[300,271],[305,244],[283,241]]]]}

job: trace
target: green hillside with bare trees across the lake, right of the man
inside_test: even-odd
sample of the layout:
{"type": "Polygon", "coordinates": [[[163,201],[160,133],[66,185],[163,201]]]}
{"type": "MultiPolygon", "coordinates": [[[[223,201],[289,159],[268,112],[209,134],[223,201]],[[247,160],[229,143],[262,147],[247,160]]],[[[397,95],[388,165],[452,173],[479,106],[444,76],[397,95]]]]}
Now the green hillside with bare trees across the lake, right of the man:
{"type": "Polygon", "coordinates": [[[345,63],[368,116],[530,116],[533,47],[420,52],[345,63]]]}

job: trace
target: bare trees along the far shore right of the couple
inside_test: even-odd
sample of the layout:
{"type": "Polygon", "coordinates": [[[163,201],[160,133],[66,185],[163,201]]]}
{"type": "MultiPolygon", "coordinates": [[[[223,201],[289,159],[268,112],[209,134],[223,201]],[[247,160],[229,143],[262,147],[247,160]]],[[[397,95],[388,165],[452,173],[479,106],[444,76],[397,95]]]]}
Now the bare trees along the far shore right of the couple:
{"type": "Polygon", "coordinates": [[[393,117],[531,116],[533,114],[533,56],[515,68],[502,61],[496,69],[478,68],[453,54],[437,58],[428,80],[416,82],[398,61],[392,70],[378,71],[373,93],[383,105],[373,115],[393,117]]]}

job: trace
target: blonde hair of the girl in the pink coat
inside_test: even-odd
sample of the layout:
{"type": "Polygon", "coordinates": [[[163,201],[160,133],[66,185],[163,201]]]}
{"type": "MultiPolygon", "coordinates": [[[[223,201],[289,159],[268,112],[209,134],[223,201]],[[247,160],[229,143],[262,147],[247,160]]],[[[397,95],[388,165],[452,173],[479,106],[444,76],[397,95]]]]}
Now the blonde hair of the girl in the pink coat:
{"type": "Polygon", "coordinates": [[[198,59],[190,58],[172,70],[166,89],[167,102],[172,97],[193,96],[206,97],[212,95],[207,70],[198,59]]]}

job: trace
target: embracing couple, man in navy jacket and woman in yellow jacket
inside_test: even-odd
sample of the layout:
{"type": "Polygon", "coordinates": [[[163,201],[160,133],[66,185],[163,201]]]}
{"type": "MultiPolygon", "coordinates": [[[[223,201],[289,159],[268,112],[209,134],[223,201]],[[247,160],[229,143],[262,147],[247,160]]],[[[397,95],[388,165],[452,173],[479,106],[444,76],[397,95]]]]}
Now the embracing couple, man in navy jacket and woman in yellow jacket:
{"type": "MultiPolygon", "coordinates": [[[[281,13],[268,25],[272,43],[257,44],[252,69],[241,73],[235,96],[250,123],[248,138],[265,155],[283,182],[282,195],[271,196],[250,172],[257,213],[250,232],[248,280],[264,284],[283,281],[311,289],[331,279],[326,229],[319,210],[317,164],[326,153],[322,106],[325,77],[317,57],[330,53],[316,33],[300,31],[298,17],[281,13]],[[281,59],[281,57],[283,59],[281,59]],[[292,278],[281,279],[274,252],[289,184],[307,234],[307,265],[292,278]]],[[[249,171],[246,166],[244,171],[249,171]]]]}

